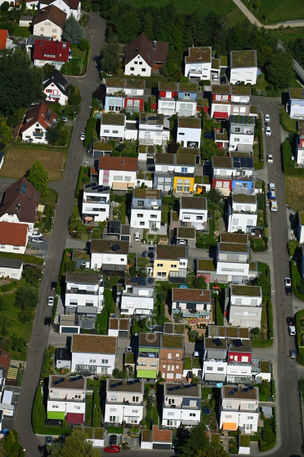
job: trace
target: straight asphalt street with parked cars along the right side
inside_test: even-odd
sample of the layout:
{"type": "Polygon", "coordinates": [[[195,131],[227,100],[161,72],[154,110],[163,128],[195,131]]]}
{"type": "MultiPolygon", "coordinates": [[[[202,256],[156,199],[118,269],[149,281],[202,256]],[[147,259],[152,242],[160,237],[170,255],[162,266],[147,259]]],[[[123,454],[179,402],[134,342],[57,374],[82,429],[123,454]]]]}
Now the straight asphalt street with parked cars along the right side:
{"type": "MultiPolygon", "coordinates": [[[[289,277],[289,256],[286,249],[288,227],[286,219],[284,175],[281,164],[281,126],[279,123],[278,100],[264,97],[252,97],[252,104],[260,105],[263,114],[270,115],[271,137],[266,137],[267,154],[273,154],[273,164],[267,164],[268,182],[275,184],[278,211],[271,213],[271,236],[273,254],[272,290],[273,308],[276,313],[278,338],[278,379],[277,395],[280,413],[277,414],[278,433],[281,447],[276,452],[269,452],[276,457],[300,454],[302,443],[299,395],[297,391],[296,361],[289,358],[289,349],[295,347],[294,337],[288,335],[286,317],[293,316],[293,298],[285,295],[284,277],[289,277]]],[[[266,159],[266,158],[265,158],[266,159]]],[[[269,224],[269,221],[268,221],[269,224]]]]}

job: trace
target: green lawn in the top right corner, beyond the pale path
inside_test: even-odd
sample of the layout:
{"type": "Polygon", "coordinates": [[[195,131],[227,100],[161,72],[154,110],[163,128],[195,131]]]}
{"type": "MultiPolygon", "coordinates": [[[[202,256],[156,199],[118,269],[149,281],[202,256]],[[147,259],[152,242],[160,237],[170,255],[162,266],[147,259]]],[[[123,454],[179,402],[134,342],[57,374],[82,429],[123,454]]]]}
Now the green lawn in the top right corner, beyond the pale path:
{"type": "Polygon", "coordinates": [[[253,1],[242,0],[244,5],[252,12],[254,16],[265,24],[265,13],[267,16],[267,24],[277,24],[284,21],[296,21],[304,17],[304,2],[303,0],[263,0],[258,11],[253,6],[253,1]]]}

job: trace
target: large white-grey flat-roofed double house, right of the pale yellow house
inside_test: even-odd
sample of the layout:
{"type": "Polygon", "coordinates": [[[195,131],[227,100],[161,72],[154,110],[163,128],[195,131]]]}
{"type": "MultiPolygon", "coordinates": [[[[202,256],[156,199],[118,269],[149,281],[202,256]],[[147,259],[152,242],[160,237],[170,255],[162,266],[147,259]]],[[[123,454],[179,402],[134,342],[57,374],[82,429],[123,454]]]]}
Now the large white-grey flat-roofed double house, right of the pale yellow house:
{"type": "Polygon", "coordinates": [[[217,244],[216,275],[219,282],[239,283],[249,275],[250,244],[246,234],[222,233],[217,244]]]}

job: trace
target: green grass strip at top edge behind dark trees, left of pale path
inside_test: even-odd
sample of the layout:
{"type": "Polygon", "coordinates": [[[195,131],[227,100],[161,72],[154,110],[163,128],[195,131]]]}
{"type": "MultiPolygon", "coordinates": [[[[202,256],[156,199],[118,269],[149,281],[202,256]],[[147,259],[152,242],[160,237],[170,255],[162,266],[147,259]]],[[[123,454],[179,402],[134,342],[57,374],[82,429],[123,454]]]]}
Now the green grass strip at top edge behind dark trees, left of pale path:
{"type": "MultiPolygon", "coordinates": [[[[149,5],[164,6],[169,3],[169,0],[150,0],[149,5]]],[[[189,13],[194,10],[204,11],[204,14],[209,11],[223,12],[228,16],[229,26],[233,26],[236,22],[243,21],[245,16],[239,10],[239,8],[233,3],[232,0],[190,0],[184,2],[184,0],[173,0],[173,3],[177,10],[183,13],[189,13]]],[[[141,8],[147,5],[145,0],[133,0],[132,5],[135,8],[141,8]]]]}

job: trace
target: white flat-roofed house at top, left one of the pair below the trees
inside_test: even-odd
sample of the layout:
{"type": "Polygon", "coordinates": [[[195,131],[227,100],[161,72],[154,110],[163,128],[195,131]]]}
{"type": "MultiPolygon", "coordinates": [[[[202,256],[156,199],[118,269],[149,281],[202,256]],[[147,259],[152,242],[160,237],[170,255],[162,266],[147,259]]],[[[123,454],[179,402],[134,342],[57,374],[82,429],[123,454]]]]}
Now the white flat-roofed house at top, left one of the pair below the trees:
{"type": "Polygon", "coordinates": [[[201,46],[199,48],[188,48],[185,56],[185,73],[187,78],[197,80],[211,79],[212,48],[201,46]]]}

